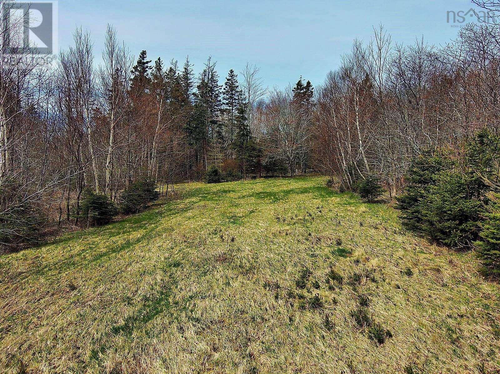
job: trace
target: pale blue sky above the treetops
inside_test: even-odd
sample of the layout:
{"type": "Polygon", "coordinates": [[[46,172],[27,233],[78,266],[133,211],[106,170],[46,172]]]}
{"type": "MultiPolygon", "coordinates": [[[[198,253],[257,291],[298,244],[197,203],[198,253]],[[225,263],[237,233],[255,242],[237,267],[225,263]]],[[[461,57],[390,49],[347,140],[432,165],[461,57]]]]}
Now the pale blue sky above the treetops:
{"type": "Polygon", "coordinates": [[[457,28],[448,10],[466,11],[468,0],[282,1],[282,0],[59,0],[59,47],[71,43],[75,26],[91,31],[100,58],[103,34],[112,23],[131,52],[149,59],[186,55],[197,73],[211,55],[223,82],[227,71],[246,61],[260,67],[269,87],[284,87],[302,75],[314,86],[336,68],[354,38],[369,40],[382,23],[399,43],[424,36],[444,44],[457,28]]]}

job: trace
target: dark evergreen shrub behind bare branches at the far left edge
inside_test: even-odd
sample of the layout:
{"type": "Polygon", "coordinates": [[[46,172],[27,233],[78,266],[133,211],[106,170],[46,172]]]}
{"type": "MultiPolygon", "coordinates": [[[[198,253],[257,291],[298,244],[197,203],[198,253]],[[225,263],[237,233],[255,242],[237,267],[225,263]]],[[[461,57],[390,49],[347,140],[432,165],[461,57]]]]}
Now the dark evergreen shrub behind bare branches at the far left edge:
{"type": "Polygon", "coordinates": [[[46,221],[39,207],[32,200],[26,201],[22,192],[15,181],[0,184],[0,253],[32,243],[46,221]]]}

